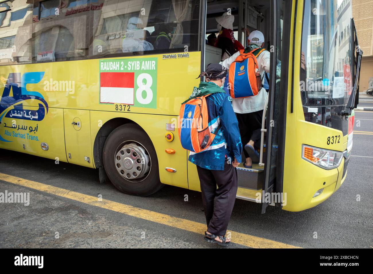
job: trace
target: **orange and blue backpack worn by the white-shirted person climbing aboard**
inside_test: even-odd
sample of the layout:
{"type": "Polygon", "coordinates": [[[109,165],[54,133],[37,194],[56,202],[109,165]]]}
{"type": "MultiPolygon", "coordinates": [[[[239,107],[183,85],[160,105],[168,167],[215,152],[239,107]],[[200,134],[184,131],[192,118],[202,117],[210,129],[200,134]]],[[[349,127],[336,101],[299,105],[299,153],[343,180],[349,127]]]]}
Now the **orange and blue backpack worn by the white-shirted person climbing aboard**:
{"type": "Polygon", "coordinates": [[[261,76],[256,57],[265,48],[256,48],[248,53],[239,51],[239,56],[229,67],[229,94],[232,98],[244,98],[255,96],[262,88],[261,76]],[[254,55],[254,51],[257,51],[254,55]]]}

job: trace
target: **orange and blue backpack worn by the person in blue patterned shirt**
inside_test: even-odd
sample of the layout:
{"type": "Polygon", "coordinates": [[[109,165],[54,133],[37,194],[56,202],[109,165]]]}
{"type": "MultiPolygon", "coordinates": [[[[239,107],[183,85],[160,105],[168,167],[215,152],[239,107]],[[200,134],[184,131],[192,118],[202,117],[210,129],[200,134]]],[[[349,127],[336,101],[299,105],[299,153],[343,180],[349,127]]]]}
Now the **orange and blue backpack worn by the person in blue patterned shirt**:
{"type": "MultiPolygon", "coordinates": [[[[209,129],[206,97],[193,98],[181,105],[179,113],[179,138],[183,148],[192,152],[204,151],[211,145],[215,134],[209,129]]],[[[220,124],[215,132],[220,129],[220,124]]]]}

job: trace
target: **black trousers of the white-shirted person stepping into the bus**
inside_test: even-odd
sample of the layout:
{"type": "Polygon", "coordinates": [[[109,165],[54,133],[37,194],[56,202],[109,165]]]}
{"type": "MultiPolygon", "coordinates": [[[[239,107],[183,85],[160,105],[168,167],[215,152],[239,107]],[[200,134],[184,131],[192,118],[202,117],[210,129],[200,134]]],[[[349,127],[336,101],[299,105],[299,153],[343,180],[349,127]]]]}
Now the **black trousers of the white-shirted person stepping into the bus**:
{"type": "MultiPolygon", "coordinates": [[[[245,146],[250,140],[254,141],[254,148],[260,149],[261,136],[261,119],[263,110],[258,110],[251,113],[236,113],[238,120],[239,134],[241,135],[242,146],[245,146]]],[[[249,154],[243,149],[245,157],[249,158],[249,154]]]]}

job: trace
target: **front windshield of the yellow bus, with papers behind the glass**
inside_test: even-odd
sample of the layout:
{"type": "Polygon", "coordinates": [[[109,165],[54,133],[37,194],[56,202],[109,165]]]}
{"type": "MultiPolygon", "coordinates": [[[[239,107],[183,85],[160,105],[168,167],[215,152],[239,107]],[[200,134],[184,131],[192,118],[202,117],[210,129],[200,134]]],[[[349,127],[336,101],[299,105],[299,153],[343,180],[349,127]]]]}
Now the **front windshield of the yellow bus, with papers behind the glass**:
{"type": "Polygon", "coordinates": [[[345,105],[352,92],[351,1],[305,1],[300,90],[303,105],[345,105]]]}

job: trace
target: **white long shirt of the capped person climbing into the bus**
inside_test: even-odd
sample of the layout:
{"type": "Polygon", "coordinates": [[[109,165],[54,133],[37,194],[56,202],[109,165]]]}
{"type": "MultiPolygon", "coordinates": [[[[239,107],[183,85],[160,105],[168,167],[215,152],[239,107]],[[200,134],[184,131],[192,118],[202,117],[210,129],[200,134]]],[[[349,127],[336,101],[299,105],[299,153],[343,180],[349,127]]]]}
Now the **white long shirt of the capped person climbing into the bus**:
{"type": "MultiPolygon", "coordinates": [[[[234,60],[239,56],[239,51],[233,54],[228,59],[220,62],[223,66],[225,66],[228,70],[234,60]]],[[[269,66],[270,66],[270,53],[269,51],[265,50],[259,54],[257,57],[259,72],[262,80],[262,84],[264,84],[264,72],[269,73],[269,66]]],[[[267,92],[264,88],[261,88],[257,95],[245,97],[245,98],[233,98],[232,107],[235,113],[251,113],[259,110],[264,109],[264,103],[266,101],[267,92]]]]}

